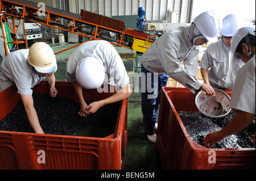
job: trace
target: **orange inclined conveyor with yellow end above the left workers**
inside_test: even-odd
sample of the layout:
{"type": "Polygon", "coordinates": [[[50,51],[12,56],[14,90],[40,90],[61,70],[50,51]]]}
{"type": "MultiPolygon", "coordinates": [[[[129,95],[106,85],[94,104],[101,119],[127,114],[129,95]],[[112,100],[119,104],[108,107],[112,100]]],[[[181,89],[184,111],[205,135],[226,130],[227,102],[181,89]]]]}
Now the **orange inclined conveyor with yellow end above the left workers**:
{"type": "MultiPolygon", "coordinates": [[[[30,20],[31,22],[43,24],[44,26],[53,27],[65,32],[71,32],[81,36],[85,36],[88,37],[89,40],[106,40],[114,45],[134,49],[138,52],[146,51],[146,49],[155,41],[155,37],[153,35],[142,31],[133,30],[131,28],[125,29],[125,22],[123,22],[122,20],[110,18],[108,16],[103,16],[100,14],[95,14],[85,10],[81,10],[81,14],[79,15],[72,12],[55,9],[49,6],[38,7],[38,3],[24,0],[0,0],[0,6],[1,14],[3,14],[1,16],[2,28],[3,22],[7,23],[5,17],[8,16],[13,20],[13,24],[14,19],[20,19],[20,22],[23,21],[23,24],[24,20],[26,19],[30,20]],[[23,12],[18,12],[16,10],[16,7],[22,7],[23,12]],[[67,25],[62,24],[60,19],[65,19],[69,23],[67,25]],[[104,31],[108,31],[115,36],[104,36],[104,31]],[[129,43],[124,41],[127,38],[130,39],[129,43]]],[[[16,30],[18,30],[18,27],[15,26],[9,27],[14,34],[16,33],[16,30]]],[[[23,28],[25,41],[19,41],[15,36],[15,40],[10,42],[16,44],[17,48],[18,44],[20,43],[26,43],[26,48],[28,48],[26,30],[25,27],[23,28]]],[[[6,35],[3,32],[3,40],[7,55],[7,41],[5,37],[6,35]]],[[[80,44],[76,44],[67,49],[77,47],[80,44]]],[[[55,54],[63,52],[67,49],[60,50],[55,54]]]]}

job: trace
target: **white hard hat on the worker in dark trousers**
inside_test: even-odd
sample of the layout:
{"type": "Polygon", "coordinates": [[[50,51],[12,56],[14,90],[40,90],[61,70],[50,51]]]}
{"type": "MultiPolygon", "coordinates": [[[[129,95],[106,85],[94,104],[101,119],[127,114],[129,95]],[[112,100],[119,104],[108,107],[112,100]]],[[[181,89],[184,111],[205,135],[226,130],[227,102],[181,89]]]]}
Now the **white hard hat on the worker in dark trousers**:
{"type": "Polygon", "coordinates": [[[199,28],[200,32],[210,42],[217,41],[217,35],[220,33],[222,28],[222,22],[212,11],[205,11],[200,15],[196,16],[194,22],[199,28]]]}

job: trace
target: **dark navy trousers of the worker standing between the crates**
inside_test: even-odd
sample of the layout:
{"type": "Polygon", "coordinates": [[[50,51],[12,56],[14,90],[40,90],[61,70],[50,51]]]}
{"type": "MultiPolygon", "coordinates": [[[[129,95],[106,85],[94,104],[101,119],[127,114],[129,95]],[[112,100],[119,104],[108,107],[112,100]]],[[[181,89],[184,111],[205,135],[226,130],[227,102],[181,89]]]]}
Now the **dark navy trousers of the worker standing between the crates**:
{"type": "MultiPolygon", "coordinates": [[[[142,78],[141,86],[147,87],[147,73],[151,73],[150,71],[146,70],[144,66],[142,65],[141,69],[142,74],[145,75],[145,79],[142,78]],[[143,82],[144,81],[144,82],[143,82]]],[[[154,79],[154,73],[151,73],[151,88],[153,89],[153,79],[154,79]]],[[[141,89],[141,100],[142,100],[142,114],[143,114],[143,124],[144,124],[144,130],[148,135],[155,134],[155,123],[156,123],[156,116],[159,108],[160,103],[160,92],[161,87],[165,87],[167,85],[168,81],[168,74],[163,73],[160,75],[156,75],[155,79],[158,78],[158,95],[156,98],[150,98],[148,95],[152,95],[152,90],[147,89],[141,89]],[[143,91],[146,90],[146,91],[143,91]],[[150,92],[148,92],[150,91],[150,92]]],[[[157,83],[157,80],[156,80],[157,83]]]]}

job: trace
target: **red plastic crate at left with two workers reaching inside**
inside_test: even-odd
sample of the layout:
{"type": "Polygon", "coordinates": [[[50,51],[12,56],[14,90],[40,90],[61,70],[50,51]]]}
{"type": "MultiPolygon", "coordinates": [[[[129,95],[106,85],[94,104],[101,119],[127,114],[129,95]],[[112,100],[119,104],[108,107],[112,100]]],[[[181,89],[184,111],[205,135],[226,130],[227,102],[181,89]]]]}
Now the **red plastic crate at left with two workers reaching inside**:
{"type": "MultiPolygon", "coordinates": [[[[72,83],[56,82],[58,96],[78,100],[72,83]]],[[[42,81],[34,92],[48,93],[42,81]]],[[[114,93],[84,90],[85,101],[114,93]]],[[[13,110],[20,95],[15,86],[0,92],[0,120],[13,110]]],[[[115,132],[104,138],[0,131],[0,169],[123,169],[127,145],[128,98],[121,101],[115,132]],[[44,151],[46,163],[38,163],[44,151]],[[40,158],[39,158],[40,159],[40,158]]]]}

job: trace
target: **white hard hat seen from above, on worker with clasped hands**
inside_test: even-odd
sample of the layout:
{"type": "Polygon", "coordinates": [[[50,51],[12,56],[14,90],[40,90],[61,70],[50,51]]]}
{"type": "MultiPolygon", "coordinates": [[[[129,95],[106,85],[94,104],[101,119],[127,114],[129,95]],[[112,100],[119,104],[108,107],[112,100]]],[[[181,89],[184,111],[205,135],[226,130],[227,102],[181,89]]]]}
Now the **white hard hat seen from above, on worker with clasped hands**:
{"type": "Polygon", "coordinates": [[[105,68],[100,58],[84,57],[76,68],[76,81],[85,89],[96,89],[102,85],[105,78],[105,68]]]}

